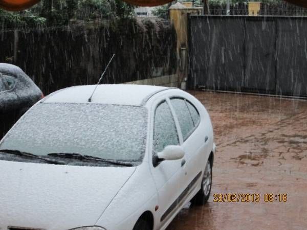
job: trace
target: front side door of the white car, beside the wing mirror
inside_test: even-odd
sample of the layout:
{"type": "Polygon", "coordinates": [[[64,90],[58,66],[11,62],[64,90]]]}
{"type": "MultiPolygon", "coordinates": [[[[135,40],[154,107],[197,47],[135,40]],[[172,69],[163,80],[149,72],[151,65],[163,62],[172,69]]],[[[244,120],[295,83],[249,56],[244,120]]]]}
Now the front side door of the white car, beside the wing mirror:
{"type": "Polygon", "coordinates": [[[178,210],[178,197],[183,192],[184,171],[182,160],[163,160],[157,163],[156,153],[163,151],[166,146],[180,145],[178,124],[173,118],[169,104],[166,100],[159,101],[155,106],[152,125],[152,164],[150,164],[152,177],[158,191],[158,216],[155,226],[160,229],[170,217],[178,210]]]}

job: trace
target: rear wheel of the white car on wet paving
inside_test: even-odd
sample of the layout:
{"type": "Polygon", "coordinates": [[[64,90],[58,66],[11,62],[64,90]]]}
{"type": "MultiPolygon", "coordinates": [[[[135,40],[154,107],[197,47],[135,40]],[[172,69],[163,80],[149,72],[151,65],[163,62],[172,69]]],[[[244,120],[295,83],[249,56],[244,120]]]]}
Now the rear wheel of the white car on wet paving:
{"type": "Polygon", "coordinates": [[[208,160],[206,164],[201,183],[202,185],[200,191],[198,191],[198,193],[196,193],[196,195],[191,200],[192,204],[203,205],[207,203],[210,197],[212,186],[212,164],[210,160],[208,160]]]}

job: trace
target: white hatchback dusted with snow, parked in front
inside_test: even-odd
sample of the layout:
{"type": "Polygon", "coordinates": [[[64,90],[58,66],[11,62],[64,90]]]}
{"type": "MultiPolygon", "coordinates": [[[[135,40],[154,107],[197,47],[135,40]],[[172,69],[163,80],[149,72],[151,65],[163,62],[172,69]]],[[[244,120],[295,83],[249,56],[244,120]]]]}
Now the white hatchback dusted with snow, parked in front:
{"type": "Polygon", "coordinates": [[[165,229],[210,195],[209,115],[177,88],[75,86],[0,142],[0,229],[165,229]]]}

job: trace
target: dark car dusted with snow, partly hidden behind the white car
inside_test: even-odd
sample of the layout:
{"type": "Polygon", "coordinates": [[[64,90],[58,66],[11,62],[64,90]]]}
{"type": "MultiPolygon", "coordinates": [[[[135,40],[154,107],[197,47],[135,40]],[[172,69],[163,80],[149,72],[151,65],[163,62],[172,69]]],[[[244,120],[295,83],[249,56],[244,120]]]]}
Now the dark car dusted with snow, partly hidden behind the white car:
{"type": "Polygon", "coordinates": [[[0,63],[0,139],[42,97],[41,90],[19,67],[0,63]]]}

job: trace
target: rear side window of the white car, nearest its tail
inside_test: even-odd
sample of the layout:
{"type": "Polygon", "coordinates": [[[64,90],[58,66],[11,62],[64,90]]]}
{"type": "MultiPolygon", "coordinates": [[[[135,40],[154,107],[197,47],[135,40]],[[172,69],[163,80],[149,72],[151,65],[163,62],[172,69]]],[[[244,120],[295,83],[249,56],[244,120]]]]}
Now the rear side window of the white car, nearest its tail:
{"type": "Polygon", "coordinates": [[[183,98],[171,98],[170,101],[178,118],[183,141],[185,141],[198,126],[200,115],[195,107],[183,98]]]}

